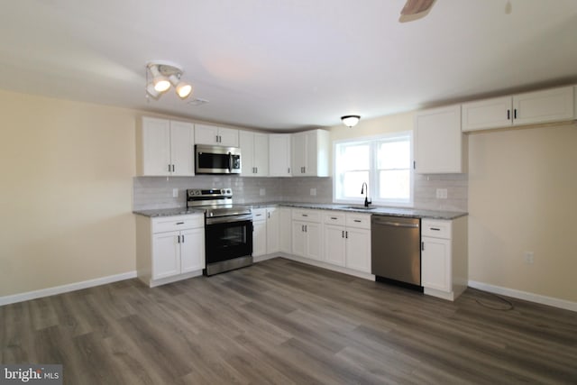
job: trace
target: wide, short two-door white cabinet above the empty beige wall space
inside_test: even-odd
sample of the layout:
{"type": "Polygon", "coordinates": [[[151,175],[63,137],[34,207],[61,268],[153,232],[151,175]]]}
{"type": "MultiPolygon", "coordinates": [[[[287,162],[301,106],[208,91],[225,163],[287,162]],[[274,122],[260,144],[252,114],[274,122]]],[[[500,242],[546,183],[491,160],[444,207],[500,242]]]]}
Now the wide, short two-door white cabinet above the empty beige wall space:
{"type": "Polygon", "coordinates": [[[572,120],[573,94],[573,87],[559,87],[465,103],[462,129],[467,132],[572,120]]]}

